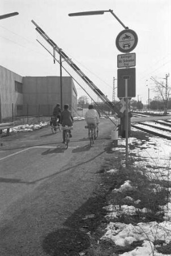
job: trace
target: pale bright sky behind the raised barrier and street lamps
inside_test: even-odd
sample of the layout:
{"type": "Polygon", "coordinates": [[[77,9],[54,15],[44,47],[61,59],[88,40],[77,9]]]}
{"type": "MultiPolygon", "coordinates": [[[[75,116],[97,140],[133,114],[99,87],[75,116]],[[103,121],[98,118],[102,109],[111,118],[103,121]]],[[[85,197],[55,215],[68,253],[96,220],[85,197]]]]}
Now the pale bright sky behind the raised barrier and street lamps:
{"type": "MultiPolygon", "coordinates": [[[[36,41],[34,20],[72,58],[87,77],[112,100],[117,87],[115,40],[124,27],[111,13],[69,17],[80,11],[113,10],[138,36],[136,48],[136,97],[144,104],[156,93],[155,77],[164,82],[171,68],[170,0],[1,0],[0,65],[21,76],[59,76],[59,63],[36,41]]],[[[68,75],[62,72],[62,75],[68,75]]],[[[168,77],[170,85],[170,76],[168,77]]],[[[78,97],[85,95],[77,85],[78,97]]],[[[117,93],[115,93],[116,96],[117,93]]],[[[117,97],[115,98],[118,99],[117,97]]]]}

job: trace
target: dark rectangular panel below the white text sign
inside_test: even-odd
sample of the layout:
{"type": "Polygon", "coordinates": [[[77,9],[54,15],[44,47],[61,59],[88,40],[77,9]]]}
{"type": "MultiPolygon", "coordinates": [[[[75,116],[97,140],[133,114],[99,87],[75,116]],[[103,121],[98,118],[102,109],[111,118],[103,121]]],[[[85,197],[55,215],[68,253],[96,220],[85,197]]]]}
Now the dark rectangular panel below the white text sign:
{"type": "Polygon", "coordinates": [[[118,69],[118,98],[126,97],[126,80],[127,80],[127,97],[135,97],[135,68],[118,69]]]}

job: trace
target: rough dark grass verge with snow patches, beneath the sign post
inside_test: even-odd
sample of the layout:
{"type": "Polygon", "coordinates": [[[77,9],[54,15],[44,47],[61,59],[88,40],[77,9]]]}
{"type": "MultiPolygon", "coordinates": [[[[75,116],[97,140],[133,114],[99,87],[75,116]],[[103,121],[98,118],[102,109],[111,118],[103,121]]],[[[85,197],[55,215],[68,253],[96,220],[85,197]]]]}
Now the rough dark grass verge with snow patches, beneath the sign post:
{"type": "MultiPolygon", "coordinates": [[[[132,136],[139,139],[142,144],[148,141],[145,133],[140,131],[134,132],[132,136]]],[[[135,143],[132,149],[138,147],[139,143],[135,143]]],[[[142,246],[143,240],[120,246],[110,236],[108,239],[102,239],[106,226],[111,222],[114,224],[121,222],[134,227],[138,225],[141,233],[151,245],[151,255],[154,255],[155,250],[162,254],[170,253],[171,242],[166,244],[157,235],[165,229],[164,227],[161,229],[160,224],[166,220],[164,209],[169,203],[169,188],[171,187],[169,175],[167,179],[162,178],[161,167],[159,166],[156,174],[156,167],[153,168],[144,159],[139,159],[140,164],[135,166],[134,154],[131,155],[130,166],[126,168],[123,164],[124,151],[112,151],[111,147],[110,153],[110,157],[106,158],[106,163],[100,170],[103,176],[103,189],[109,191],[106,194],[106,216],[103,217],[101,225],[95,232],[91,233],[89,249],[80,255],[119,256],[142,246]],[[111,170],[114,171],[111,172],[111,170]],[[153,224],[152,238],[147,230],[142,228],[143,224],[145,226],[149,222],[153,224]]],[[[165,232],[170,232],[170,230],[165,230],[165,232]]]]}

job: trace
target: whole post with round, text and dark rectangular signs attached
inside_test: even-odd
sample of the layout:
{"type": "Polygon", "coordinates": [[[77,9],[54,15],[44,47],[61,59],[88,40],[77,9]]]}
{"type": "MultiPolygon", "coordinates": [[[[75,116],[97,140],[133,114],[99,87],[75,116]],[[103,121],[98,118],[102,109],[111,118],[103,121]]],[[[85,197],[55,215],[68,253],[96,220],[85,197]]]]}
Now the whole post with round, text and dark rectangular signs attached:
{"type": "MultiPolygon", "coordinates": [[[[121,31],[116,37],[116,47],[120,52],[126,53],[118,55],[118,98],[126,99],[125,111],[125,136],[126,136],[126,167],[128,167],[128,97],[135,97],[135,53],[130,53],[137,45],[137,35],[134,30],[126,29],[121,31]]],[[[123,129],[123,127],[122,127],[123,129]]]]}

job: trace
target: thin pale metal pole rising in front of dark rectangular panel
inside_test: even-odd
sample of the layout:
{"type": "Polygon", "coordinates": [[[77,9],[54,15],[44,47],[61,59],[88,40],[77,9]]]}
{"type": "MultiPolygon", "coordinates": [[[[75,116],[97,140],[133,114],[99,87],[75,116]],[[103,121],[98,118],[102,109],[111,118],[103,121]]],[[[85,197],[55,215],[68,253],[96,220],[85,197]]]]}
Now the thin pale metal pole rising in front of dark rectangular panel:
{"type": "Polygon", "coordinates": [[[126,79],[126,167],[128,167],[128,80],[126,79]]]}

